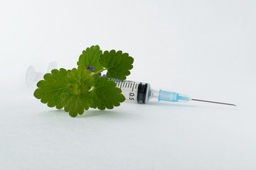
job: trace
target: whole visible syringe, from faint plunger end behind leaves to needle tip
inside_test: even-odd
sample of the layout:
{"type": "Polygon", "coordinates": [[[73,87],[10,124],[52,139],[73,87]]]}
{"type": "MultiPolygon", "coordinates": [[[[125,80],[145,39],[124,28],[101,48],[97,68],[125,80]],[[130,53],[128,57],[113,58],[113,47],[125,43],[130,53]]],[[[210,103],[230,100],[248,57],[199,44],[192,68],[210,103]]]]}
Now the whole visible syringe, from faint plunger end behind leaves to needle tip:
{"type": "MultiPolygon", "coordinates": [[[[57,63],[51,62],[48,66],[48,72],[52,69],[57,69],[57,63]]],[[[26,84],[31,86],[43,79],[43,73],[35,72],[33,66],[28,67],[26,72],[26,84]]],[[[122,94],[125,97],[125,101],[134,103],[148,103],[151,98],[156,98],[158,101],[171,101],[171,102],[188,102],[188,101],[203,101],[209,103],[225,104],[230,106],[236,106],[230,103],[220,103],[215,101],[204,101],[196,98],[190,98],[185,94],[178,94],[171,91],[155,91],[151,89],[151,85],[148,83],[142,83],[138,81],[127,81],[119,79],[111,79],[117,84],[117,87],[122,90],[122,94]]]]}

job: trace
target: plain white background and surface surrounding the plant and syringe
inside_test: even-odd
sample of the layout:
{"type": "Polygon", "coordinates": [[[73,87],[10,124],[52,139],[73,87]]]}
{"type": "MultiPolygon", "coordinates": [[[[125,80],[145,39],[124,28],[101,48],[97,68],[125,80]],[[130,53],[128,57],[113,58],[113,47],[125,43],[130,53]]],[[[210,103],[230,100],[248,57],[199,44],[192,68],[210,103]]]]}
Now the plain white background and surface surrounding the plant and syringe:
{"type": "Polygon", "coordinates": [[[0,1],[0,169],[256,169],[256,1],[0,1]],[[194,98],[71,118],[33,97],[33,65],[134,57],[129,80],[194,98]]]}

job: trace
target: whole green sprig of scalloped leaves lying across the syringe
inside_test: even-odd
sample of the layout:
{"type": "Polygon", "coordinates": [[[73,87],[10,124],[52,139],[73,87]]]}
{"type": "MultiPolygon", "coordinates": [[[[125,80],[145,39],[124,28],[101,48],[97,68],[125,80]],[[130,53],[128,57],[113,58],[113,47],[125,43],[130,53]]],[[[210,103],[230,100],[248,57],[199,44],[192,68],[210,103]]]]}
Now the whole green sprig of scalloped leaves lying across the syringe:
{"type": "Polygon", "coordinates": [[[122,51],[105,51],[98,45],[87,47],[78,60],[78,68],[53,69],[39,81],[34,96],[49,107],[64,108],[71,116],[89,108],[100,110],[119,106],[125,98],[114,79],[126,79],[134,59],[122,51]],[[101,73],[107,74],[101,77],[101,73]]]}

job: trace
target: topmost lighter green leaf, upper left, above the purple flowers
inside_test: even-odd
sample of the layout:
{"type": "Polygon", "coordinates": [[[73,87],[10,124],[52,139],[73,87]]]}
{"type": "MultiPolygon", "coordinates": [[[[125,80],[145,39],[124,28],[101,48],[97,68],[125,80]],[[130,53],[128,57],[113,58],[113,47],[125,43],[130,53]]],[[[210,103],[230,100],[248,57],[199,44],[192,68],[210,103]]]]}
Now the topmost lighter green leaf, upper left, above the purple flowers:
{"type": "Polygon", "coordinates": [[[92,47],[87,47],[86,50],[82,51],[78,60],[78,66],[81,64],[85,67],[92,66],[94,67],[93,72],[97,72],[103,67],[99,64],[98,60],[100,55],[102,55],[102,50],[100,50],[99,45],[92,45],[92,47]]]}

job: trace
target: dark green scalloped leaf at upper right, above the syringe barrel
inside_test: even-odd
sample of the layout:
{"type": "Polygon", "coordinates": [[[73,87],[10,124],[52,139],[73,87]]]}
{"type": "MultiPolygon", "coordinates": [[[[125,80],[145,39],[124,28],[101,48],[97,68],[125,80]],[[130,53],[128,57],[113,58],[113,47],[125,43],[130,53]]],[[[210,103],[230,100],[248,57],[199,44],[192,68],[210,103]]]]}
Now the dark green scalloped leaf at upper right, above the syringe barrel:
{"type": "Polygon", "coordinates": [[[105,51],[103,55],[100,55],[99,62],[102,67],[107,69],[107,77],[126,79],[131,74],[129,70],[133,67],[134,59],[127,53],[122,53],[122,51],[111,50],[110,52],[105,51]]]}

